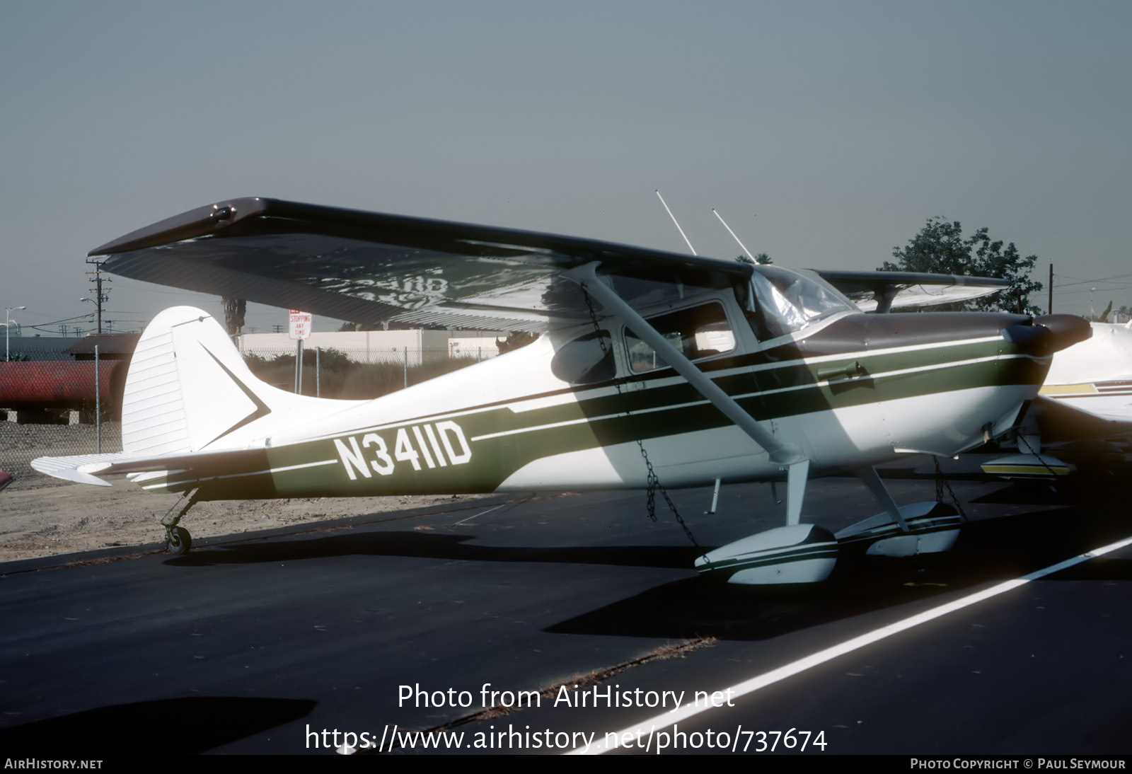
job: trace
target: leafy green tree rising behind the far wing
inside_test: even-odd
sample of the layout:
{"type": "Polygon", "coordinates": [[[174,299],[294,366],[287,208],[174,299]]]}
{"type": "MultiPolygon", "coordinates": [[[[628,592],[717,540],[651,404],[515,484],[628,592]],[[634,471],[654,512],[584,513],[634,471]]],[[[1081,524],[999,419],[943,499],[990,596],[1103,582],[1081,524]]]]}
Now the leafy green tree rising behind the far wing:
{"type": "Polygon", "coordinates": [[[1030,272],[1038,257],[1023,258],[1013,242],[1003,246],[1002,240],[990,239],[986,226],[964,238],[959,221],[949,223],[942,217],[929,217],[924,229],[907,246],[893,248],[892,257],[897,260],[884,261],[878,270],[1010,280],[1010,287],[993,295],[950,304],[947,308],[1002,310],[1024,315],[1040,312],[1040,309],[1030,303],[1030,293],[1041,290],[1040,282],[1030,280],[1030,272]]]}

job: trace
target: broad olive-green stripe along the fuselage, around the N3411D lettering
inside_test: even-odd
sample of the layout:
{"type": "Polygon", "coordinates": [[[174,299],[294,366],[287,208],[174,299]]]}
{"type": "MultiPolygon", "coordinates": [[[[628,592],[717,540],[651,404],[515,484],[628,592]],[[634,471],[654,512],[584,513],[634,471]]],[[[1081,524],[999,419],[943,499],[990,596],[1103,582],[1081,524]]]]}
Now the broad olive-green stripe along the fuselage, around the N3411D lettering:
{"type": "MultiPolygon", "coordinates": [[[[758,358],[718,359],[701,367],[760,421],[975,387],[1038,385],[1048,364],[1046,359],[1037,360],[1015,352],[1002,338],[951,346],[901,347],[890,352],[854,352],[843,358],[824,356],[809,362],[767,363],[764,353],[757,354],[758,358]],[[818,369],[829,373],[831,368],[841,366],[849,369],[846,373],[857,376],[818,378],[818,369]]],[[[431,441],[427,449],[415,449],[420,471],[414,470],[411,462],[396,458],[398,429],[423,427],[429,423],[424,419],[337,437],[346,454],[353,450],[351,444],[358,445],[358,458],[371,466],[367,467],[369,476],[355,466],[354,479],[351,479],[350,465],[335,438],[321,438],[265,449],[261,461],[257,461],[259,464],[246,471],[173,472],[164,481],[155,479],[146,485],[181,490],[199,480],[201,499],[494,491],[520,467],[548,455],[730,424],[691,385],[675,377],[671,369],[660,369],[632,384],[623,382],[619,389],[615,382],[576,388],[558,405],[532,411],[512,408],[524,401],[544,398],[546,395],[532,395],[509,405],[444,414],[460,425],[468,439],[471,455],[465,464],[429,467],[424,452],[429,453],[429,458],[436,456],[438,440],[431,441]],[[666,381],[670,384],[663,384],[666,381]],[[377,456],[377,441],[363,445],[363,439],[370,435],[379,437],[385,446],[387,465],[377,456]],[[341,464],[328,464],[328,461],[341,464]],[[392,473],[383,475],[378,467],[392,468],[392,473]]],[[[443,422],[435,427],[439,424],[443,422]]],[[[415,448],[415,433],[406,436],[415,448]]],[[[435,437],[439,438],[438,431],[435,437]]],[[[460,449],[455,454],[458,455],[460,449]]]]}

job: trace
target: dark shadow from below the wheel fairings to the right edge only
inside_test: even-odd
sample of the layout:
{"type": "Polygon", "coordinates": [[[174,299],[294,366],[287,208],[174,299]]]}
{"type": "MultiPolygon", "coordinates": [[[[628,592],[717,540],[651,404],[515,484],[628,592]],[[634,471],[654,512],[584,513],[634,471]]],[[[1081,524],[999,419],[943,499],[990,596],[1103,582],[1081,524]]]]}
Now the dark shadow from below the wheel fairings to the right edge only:
{"type": "MultiPolygon", "coordinates": [[[[812,586],[735,586],[706,578],[667,583],[571,618],[551,634],[764,640],[910,602],[1032,573],[1125,536],[1126,519],[1071,522],[1057,509],[968,524],[942,554],[890,559],[842,557],[812,586]]],[[[1044,580],[1132,580],[1132,560],[1104,559],[1044,580]]],[[[941,600],[942,602],[942,600],[941,600]]]]}

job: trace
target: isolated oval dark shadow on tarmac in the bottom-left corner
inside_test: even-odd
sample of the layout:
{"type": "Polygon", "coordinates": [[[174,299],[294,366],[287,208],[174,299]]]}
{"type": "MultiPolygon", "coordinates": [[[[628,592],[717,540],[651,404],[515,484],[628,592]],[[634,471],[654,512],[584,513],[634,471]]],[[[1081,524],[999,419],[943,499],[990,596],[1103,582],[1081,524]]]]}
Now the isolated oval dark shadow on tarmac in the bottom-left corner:
{"type": "Polygon", "coordinates": [[[9,757],[195,755],[310,714],[309,699],[196,696],[118,704],[0,730],[9,757]]]}

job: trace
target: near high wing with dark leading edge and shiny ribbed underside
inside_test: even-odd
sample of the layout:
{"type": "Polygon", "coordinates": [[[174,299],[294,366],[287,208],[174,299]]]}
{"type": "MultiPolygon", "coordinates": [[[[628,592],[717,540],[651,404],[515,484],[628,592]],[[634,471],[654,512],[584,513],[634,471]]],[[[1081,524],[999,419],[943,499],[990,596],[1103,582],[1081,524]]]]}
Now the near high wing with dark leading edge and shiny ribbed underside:
{"type": "Polygon", "coordinates": [[[584,319],[576,285],[559,281],[583,264],[707,287],[752,274],[737,261],[265,198],[207,205],[91,256],[134,280],[354,322],[535,333],[584,319]]]}

